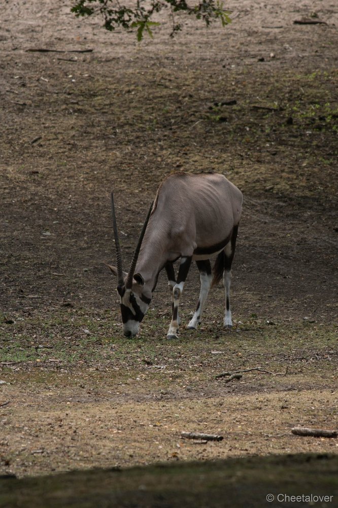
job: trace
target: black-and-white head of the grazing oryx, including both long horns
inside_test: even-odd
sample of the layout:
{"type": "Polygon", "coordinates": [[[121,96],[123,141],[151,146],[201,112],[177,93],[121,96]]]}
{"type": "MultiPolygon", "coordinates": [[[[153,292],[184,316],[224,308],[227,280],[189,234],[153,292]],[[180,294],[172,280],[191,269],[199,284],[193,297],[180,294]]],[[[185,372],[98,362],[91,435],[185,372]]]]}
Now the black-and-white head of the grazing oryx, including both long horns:
{"type": "Polygon", "coordinates": [[[134,250],[129,271],[126,273],[122,269],[122,256],[120,242],[116,224],[116,214],[114,207],[114,197],[112,193],[112,217],[113,230],[116,249],[117,266],[107,265],[113,274],[117,277],[117,293],[120,299],[121,316],[123,324],[123,334],[126,337],[133,337],[139,331],[139,325],[143,320],[151,302],[152,293],[146,288],[145,281],[141,273],[135,273],[136,264],[139,257],[144,234],[146,232],[148,220],[151,214],[153,203],[151,204],[145,223],[143,225],[139,241],[134,250]]]}

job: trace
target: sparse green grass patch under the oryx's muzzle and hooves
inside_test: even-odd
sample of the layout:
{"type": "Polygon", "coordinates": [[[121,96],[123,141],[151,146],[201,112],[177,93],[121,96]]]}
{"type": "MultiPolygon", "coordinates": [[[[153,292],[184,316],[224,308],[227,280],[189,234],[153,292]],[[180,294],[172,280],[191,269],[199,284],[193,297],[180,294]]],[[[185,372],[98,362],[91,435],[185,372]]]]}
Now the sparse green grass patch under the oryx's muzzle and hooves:
{"type": "MultiPolygon", "coordinates": [[[[177,383],[191,384],[238,368],[261,366],[282,372],[291,366],[291,370],[301,367],[309,375],[319,367],[328,373],[337,368],[333,325],[272,321],[254,312],[247,318],[238,316],[241,323],[235,323],[230,332],[213,323],[210,315],[198,330],[189,331],[184,329],[188,318],[183,312],[180,338],[168,341],[167,316],[161,320],[150,309],[141,333],[126,339],[114,315],[111,311],[73,309],[14,315],[12,324],[1,327],[0,362],[15,362],[16,367],[28,370],[108,369],[121,383],[141,373],[162,388],[171,385],[174,377],[177,383]]],[[[105,372],[102,375],[106,376],[105,372]]]]}

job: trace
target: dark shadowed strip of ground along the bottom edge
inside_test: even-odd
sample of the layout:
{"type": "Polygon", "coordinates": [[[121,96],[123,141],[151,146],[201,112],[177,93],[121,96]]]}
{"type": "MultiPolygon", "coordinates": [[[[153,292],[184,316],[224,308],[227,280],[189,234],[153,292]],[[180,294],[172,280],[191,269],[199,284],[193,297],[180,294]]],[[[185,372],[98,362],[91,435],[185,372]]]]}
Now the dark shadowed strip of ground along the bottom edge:
{"type": "Polygon", "coordinates": [[[3,508],[338,506],[338,456],[273,455],[0,478],[3,508]]]}

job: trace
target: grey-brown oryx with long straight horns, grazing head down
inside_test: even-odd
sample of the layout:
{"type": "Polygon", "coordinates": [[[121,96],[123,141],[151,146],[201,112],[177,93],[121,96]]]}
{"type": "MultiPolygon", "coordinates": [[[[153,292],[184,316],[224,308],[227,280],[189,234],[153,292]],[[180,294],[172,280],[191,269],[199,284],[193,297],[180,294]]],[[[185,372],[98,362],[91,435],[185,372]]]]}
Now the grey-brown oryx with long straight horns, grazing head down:
{"type": "Polygon", "coordinates": [[[231,327],[230,269],[241,216],[243,196],[223,175],[175,173],[160,184],[151,204],[128,273],[122,258],[112,193],[113,229],[123,333],[132,337],[149,307],[159,272],[165,268],[172,297],[173,317],[167,338],[177,338],[178,308],[191,261],[200,274],[196,311],[187,328],[197,328],[209,289],[223,277],[226,310],[224,326],[231,327]],[[212,269],[210,257],[217,255],[212,269]],[[177,278],[173,263],[180,259],[177,278]]]}

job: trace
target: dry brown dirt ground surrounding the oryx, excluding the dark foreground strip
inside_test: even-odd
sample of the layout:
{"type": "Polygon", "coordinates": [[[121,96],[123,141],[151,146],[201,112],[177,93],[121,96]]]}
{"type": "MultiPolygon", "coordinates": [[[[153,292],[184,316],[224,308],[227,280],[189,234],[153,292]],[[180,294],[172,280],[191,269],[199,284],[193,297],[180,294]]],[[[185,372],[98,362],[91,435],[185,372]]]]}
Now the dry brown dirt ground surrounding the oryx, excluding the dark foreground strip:
{"type": "MultiPolygon", "coordinates": [[[[1,473],[336,454],[336,439],[290,433],[338,426],[334,4],[229,0],[230,26],[189,20],[172,40],[164,22],[142,44],[64,0],[2,4],[1,473]],[[244,193],[234,327],[222,329],[220,287],[200,329],[168,343],[161,275],[125,340],[103,264],[109,194],[127,265],[174,171],[220,172],[244,193]],[[215,379],[255,367],[270,373],[215,379]]],[[[197,279],[193,267],[183,324],[197,279]]]]}

